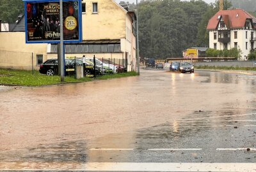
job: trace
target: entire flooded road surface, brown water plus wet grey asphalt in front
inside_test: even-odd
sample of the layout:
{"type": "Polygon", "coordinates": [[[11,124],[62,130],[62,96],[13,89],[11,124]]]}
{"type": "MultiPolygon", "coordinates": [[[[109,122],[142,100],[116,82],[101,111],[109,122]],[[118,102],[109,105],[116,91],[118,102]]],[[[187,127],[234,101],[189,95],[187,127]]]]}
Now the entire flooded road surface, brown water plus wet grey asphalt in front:
{"type": "Polygon", "coordinates": [[[255,85],[255,75],[141,70],[129,78],[0,89],[0,170],[172,171],[124,163],[182,162],[221,171],[221,162],[255,171],[255,85]]]}

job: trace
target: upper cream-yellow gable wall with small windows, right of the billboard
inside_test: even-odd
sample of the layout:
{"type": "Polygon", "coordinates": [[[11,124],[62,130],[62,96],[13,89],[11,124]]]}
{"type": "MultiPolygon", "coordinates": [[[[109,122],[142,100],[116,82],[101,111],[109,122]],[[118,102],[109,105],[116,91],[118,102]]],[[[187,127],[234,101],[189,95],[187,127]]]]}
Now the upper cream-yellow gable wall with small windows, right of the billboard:
{"type": "Polygon", "coordinates": [[[83,0],[83,40],[125,38],[125,13],[113,0],[83,0]],[[98,3],[98,13],[92,13],[92,3],[98,3]]]}

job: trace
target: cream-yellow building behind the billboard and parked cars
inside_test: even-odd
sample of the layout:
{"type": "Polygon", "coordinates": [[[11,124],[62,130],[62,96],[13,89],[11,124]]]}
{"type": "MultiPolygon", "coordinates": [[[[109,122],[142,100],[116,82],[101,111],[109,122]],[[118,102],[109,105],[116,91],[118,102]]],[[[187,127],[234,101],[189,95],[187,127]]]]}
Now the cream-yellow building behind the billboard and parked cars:
{"type": "MultiPolygon", "coordinates": [[[[136,70],[136,15],[133,11],[113,0],[83,0],[82,24],[83,42],[65,44],[66,57],[95,55],[97,58],[127,59],[128,71],[136,70]]],[[[57,57],[56,44],[26,44],[24,31],[23,17],[13,32],[0,32],[0,50],[31,52],[40,61],[57,57]]],[[[22,58],[17,60],[22,61],[22,58]]],[[[35,64],[39,65],[38,59],[35,64]]]]}

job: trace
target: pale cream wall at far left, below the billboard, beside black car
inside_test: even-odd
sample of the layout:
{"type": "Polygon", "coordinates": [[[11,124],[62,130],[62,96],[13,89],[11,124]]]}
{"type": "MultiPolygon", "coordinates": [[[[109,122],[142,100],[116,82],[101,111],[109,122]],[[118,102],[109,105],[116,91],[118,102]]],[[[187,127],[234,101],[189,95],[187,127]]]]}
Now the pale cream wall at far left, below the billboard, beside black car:
{"type": "Polygon", "coordinates": [[[25,32],[0,32],[0,68],[32,69],[36,66],[36,55],[42,54],[47,60],[46,44],[26,44],[25,32]]]}

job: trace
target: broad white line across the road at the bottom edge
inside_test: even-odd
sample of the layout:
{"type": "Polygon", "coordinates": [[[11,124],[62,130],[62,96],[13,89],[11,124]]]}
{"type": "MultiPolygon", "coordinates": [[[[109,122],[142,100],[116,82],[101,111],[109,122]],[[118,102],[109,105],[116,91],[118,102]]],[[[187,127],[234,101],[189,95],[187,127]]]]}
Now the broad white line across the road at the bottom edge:
{"type": "MultiPolygon", "coordinates": [[[[42,167],[44,162],[33,162],[33,167],[42,167]]],[[[46,163],[46,162],[45,162],[46,163]]],[[[1,164],[0,164],[1,165],[1,164]]],[[[49,166],[50,165],[50,166],[49,166]]],[[[256,163],[148,163],[148,162],[88,162],[85,164],[76,164],[76,166],[51,166],[47,168],[0,168],[2,171],[52,171],[52,170],[69,170],[69,171],[199,171],[199,172],[248,172],[256,171],[256,163]]]]}

